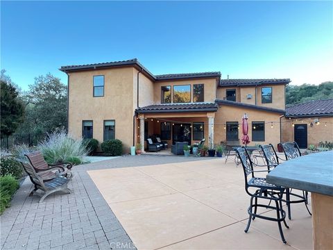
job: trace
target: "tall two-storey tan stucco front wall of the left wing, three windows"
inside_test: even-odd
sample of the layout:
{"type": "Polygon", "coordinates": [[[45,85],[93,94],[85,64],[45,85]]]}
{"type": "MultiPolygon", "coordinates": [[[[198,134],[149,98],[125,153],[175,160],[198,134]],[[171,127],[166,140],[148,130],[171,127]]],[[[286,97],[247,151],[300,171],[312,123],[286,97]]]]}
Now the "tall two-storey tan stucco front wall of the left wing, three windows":
{"type": "MultiPolygon", "coordinates": [[[[135,82],[136,84],[136,82],[135,82]]],[[[69,133],[82,136],[82,121],[93,120],[93,138],[103,142],[103,120],[115,120],[115,137],[128,152],[133,143],[133,67],[69,74],[69,133]],[[104,75],[104,97],[93,97],[93,76],[104,75]]]]}

